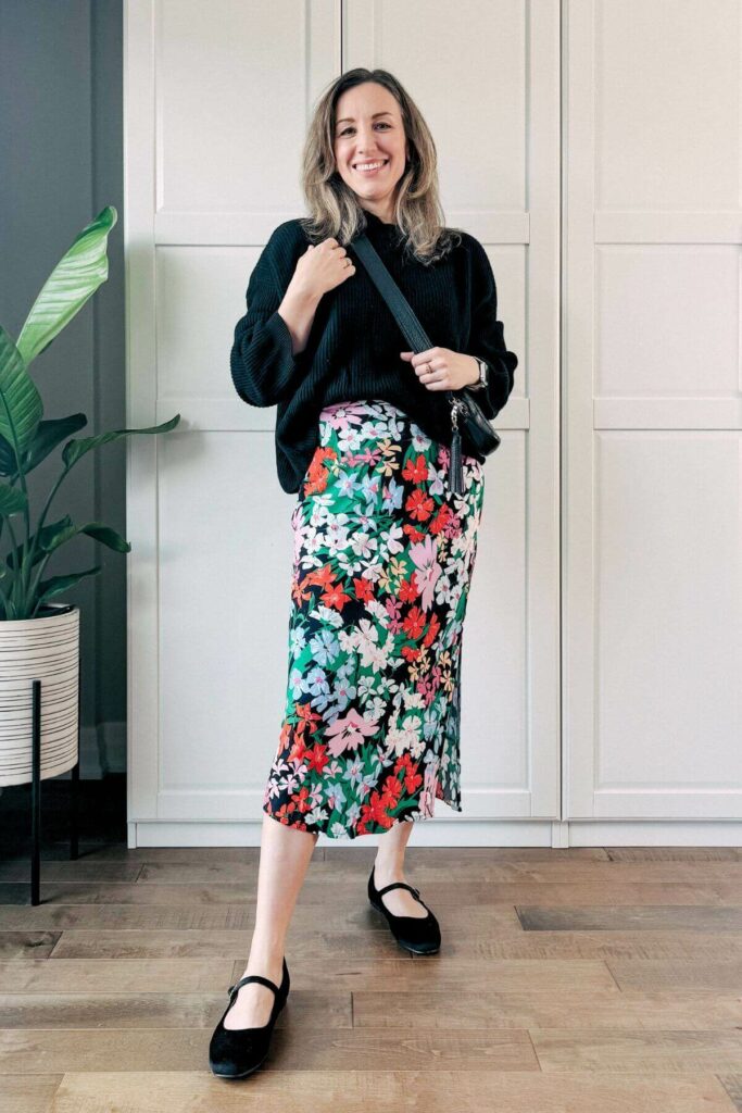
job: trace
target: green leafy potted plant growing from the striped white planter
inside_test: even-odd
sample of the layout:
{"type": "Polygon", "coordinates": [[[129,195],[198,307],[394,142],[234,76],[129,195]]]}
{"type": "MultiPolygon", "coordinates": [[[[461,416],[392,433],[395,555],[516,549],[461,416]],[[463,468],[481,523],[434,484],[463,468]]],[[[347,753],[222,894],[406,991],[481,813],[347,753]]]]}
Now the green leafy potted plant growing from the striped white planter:
{"type": "Polygon", "coordinates": [[[52,554],[79,533],[116,552],[131,551],[120,533],[100,522],[76,525],[66,514],[47,525],[47,514],[62,482],[86,453],[132,433],[166,433],[180,421],[176,414],[149,429],[119,429],[67,441],[62,472],[32,529],[26,476],[66,437],[87,425],[88,418],[77,413],[43,421],[41,395],[28,368],[108,278],[108,234],[117,219],[109,205],[76,236],[41,288],[16,342],[0,325],[0,540],[7,528],[4,543],[10,544],[6,556],[0,555],[0,621],[37,618],[49,599],[100,572],[102,565],[96,564],[82,572],[41,579],[52,554]],[[19,543],[13,521],[21,515],[24,536],[19,543]]]}

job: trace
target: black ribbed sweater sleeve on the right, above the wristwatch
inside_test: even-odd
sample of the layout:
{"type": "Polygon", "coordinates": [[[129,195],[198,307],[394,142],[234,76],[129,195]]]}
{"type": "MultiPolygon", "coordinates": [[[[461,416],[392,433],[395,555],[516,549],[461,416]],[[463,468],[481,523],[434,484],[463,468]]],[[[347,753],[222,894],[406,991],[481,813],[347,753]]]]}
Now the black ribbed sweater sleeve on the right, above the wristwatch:
{"type": "Polygon", "coordinates": [[[489,257],[472,237],[472,328],[466,355],[484,359],[489,368],[487,388],[474,396],[491,421],[503,408],[513,390],[518,364],[515,352],[508,352],[502,321],[497,321],[497,287],[489,257]]]}

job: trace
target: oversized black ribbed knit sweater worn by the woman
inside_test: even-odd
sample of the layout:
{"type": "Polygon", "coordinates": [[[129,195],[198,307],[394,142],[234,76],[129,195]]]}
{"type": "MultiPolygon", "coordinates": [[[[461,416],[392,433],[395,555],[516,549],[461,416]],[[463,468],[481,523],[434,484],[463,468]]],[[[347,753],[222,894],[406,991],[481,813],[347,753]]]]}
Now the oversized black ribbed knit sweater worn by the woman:
{"type": "MultiPolygon", "coordinates": [[[[484,247],[462,230],[461,244],[425,266],[404,254],[397,225],[368,210],[365,216],[369,240],[431,342],[487,362],[489,384],[476,400],[487,417],[495,417],[513,390],[518,361],[505,347],[484,247]]],[[[400,358],[409,345],[359,259],[354,259],[354,275],[323,295],[306,347],[293,354],[291,334],[277,308],[308,244],[298,219],[286,220],[273,233],[250,274],[247,313],[235,327],[230,357],[240,398],[278,407],[276,464],[278,481],[289,493],[299,490],[318,444],[319,412],[334,402],[384,398],[433,440],[449,445],[452,437],[446,392],[426,390],[400,358]]]]}

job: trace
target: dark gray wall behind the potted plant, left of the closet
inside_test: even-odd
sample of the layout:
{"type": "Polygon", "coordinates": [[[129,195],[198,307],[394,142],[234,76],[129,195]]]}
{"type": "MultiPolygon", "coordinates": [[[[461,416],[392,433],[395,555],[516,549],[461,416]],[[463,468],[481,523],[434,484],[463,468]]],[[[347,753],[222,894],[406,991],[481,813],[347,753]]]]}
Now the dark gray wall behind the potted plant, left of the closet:
{"type": "MultiPolygon", "coordinates": [[[[87,414],[78,436],[126,425],[121,80],[121,0],[0,0],[0,323],[11,336],[77,233],[106,205],[119,216],[108,239],[108,282],[30,367],[46,417],[87,414]]],[[[48,520],[69,513],[78,524],[100,521],[126,535],[125,453],[122,439],[83,457],[48,520]]],[[[59,459],[58,450],[30,476],[32,523],[59,459]]],[[[103,564],[63,597],[81,609],[82,776],[96,774],[98,742],[106,769],[107,737],[119,739],[112,764],[120,768],[126,561],[76,538],[47,565],[57,574],[103,564]]]]}

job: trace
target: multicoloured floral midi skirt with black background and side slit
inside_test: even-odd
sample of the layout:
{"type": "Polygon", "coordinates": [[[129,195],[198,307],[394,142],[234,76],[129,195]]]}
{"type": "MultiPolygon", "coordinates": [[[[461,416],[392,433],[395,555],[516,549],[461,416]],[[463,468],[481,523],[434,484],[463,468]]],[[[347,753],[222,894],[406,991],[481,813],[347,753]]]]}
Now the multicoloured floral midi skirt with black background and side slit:
{"type": "Polygon", "coordinates": [[[343,402],[291,516],[288,680],[263,809],[330,838],[462,810],[462,636],[484,498],[484,465],[397,406],[343,402]]]}

